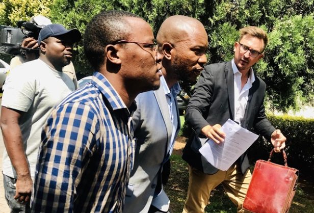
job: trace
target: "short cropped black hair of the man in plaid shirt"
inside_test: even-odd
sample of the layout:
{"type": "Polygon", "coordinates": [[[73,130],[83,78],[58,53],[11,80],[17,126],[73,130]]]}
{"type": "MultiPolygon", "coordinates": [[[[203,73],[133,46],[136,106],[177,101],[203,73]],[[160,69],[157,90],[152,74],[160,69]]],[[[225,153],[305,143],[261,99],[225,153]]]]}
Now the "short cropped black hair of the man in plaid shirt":
{"type": "Polygon", "coordinates": [[[139,17],[126,11],[100,12],[88,23],[84,35],[84,52],[95,71],[104,64],[104,49],[118,40],[127,40],[132,29],[125,17],[139,17]]]}

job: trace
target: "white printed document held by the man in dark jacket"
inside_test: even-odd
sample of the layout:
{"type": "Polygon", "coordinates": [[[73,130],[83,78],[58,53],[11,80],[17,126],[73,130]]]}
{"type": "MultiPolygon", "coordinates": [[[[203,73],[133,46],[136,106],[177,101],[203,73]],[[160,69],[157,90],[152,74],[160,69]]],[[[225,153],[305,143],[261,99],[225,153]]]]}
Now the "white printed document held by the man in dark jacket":
{"type": "Polygon", "coordinates": [[[212,139],[201,139],[205,143],[199,152],[217,169],[227,171],[229,167],[257,140],[258,135],[241,127],[228,119],[221,127],[226,138],[222,143],[215,143],[212,139]]]}

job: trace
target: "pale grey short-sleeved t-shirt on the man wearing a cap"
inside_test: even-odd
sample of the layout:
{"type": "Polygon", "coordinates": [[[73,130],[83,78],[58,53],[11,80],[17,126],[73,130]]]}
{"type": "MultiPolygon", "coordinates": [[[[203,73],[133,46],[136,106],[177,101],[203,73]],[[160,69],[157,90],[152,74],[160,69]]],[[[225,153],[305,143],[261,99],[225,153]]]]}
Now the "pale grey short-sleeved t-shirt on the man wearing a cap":
{"type": "MultiPolygon", "coordinates": [[[[19,126],[33,179],[42,128],[53,108],[72,91],[72,79],[40,59],[17,66],[6,79],[2,106],[25,112],[20,117],[19,126]]],[[[6,150],[3,173],[16,178],[6,150]]]]}

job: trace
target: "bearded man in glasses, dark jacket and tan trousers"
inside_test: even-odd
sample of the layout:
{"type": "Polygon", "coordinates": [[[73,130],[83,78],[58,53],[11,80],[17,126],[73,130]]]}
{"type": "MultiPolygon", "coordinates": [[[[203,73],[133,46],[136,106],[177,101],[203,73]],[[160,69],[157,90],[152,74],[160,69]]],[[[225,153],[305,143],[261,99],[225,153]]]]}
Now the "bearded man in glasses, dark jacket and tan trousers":
{"type": "Polygon", "coordinates": [[[239,42],[234,43],[234,59],[205,67],[195,86],[187,107],[186,121],[194,134],[189,138],[182,158],[189,163],[189,188],[183,212],[204,212],[211,191],[222,183],[238,212],[251,180],[247,154],[244,153],[227,171],[213,167],[199,153],[199,138],[224,143],[221,131],[228,119],[242,127],[252,127],[270,139],[276,151],[285,146],[286,138],[275,129],[265,115],[265,83],[257,77],[252,66],[263,57],[268,43],[264,30],[248,26],[240,30],[239,42]]]}

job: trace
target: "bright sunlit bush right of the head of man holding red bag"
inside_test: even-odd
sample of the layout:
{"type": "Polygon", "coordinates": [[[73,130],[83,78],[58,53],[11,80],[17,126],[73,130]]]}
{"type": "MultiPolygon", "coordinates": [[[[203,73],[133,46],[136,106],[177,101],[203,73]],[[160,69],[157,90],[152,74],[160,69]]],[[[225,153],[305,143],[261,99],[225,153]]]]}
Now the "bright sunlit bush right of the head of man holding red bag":
{"type": "Polygon", "coordinates": [[[274,23],[266,60],[270,66],[259,69],[269,86],[272,107],[298,107],[298,99],[313,103],[314,19],[312,15],[284,16],[274,23]]]}

